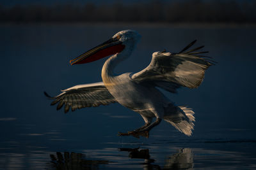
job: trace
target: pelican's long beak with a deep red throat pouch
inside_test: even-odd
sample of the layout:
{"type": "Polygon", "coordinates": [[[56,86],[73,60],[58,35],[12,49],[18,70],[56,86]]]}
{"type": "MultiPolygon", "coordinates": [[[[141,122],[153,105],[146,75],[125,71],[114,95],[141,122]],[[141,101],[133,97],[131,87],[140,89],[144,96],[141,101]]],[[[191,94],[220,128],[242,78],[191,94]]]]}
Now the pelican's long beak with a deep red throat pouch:
{"type": "Polygon", "coordinates": [[[76,59],[70,60],[70,64],[84,64],[87,62],[93,62],[95,60],[102,59],[103,57],[107,57],[109,55],[113,55],[115,53],[120,53],[124,50],[125,45],[122,45],[122,41],[118,41],[117,39],[109,39],[108,41],[88,50],[76,57],[76,59]]]}

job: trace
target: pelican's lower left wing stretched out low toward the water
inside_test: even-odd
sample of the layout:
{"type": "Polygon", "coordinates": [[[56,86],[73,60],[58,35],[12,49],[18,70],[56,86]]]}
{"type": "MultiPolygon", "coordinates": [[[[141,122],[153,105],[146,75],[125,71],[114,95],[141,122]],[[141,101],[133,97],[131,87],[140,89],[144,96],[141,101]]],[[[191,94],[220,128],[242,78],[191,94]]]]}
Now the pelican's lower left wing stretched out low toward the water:
{"type": "Polygon", "coordinates": [[[51,105],[57,104],[57,110],[60,110],[65,105],[65,113],[71,107],[72,111],[76,109],[95,107],[116,103],[115,98],[109,93],[103,82],[91,83],[86,85],[76,85],[66,90],[61,90],[62,93],[58,96],[51,97],[46,92],[45,96],[53,99],[51,105]]]}

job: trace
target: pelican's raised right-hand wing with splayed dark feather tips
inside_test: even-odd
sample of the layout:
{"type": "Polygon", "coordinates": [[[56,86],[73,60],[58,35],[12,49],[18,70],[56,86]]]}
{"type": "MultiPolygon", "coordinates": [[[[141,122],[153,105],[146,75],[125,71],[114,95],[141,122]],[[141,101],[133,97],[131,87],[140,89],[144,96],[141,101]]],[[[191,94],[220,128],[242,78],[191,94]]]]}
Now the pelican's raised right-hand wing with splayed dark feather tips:
{"type": "Polygon", "coordinates": [[[188,50],[196,42],[193,41],[179,53],[154,52],[150,64],[142,71],[132,75],[132,80],[161,87],[169,92],[177,92],[180,86],[190,89],[198,87],[205,70],[214,64],[210,57],[200,55],[207,52],[196,52],[204,46],[188,50]],[[188,50],[188,51],[186,51],[188,50]]]}

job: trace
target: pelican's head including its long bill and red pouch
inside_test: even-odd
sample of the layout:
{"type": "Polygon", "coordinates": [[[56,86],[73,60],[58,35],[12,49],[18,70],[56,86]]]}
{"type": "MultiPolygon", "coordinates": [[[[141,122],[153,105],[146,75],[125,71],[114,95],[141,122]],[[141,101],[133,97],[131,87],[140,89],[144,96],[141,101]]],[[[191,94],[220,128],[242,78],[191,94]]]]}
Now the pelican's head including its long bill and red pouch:
{"type": "Polygon", "coordinates": [[[79,55],[76,59],[70,60],[70,64],[84,64],[120,53],[123,50],[132,51],[140,38],[140,34],[136,31],[125,30],[117,32],[112,38],[108,39],[108,41],[79,55]]]}

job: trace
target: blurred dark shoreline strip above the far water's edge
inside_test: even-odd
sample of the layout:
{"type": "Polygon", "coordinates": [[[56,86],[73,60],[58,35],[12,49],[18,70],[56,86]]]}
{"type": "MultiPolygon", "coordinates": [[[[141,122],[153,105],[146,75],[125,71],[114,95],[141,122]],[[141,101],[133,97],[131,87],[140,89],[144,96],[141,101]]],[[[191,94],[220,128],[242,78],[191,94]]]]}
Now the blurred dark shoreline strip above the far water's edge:
{"type": "Polygon", "coordinates": [[[0,22],[255,23],[255,0],[0,1],[0,22]]]}

